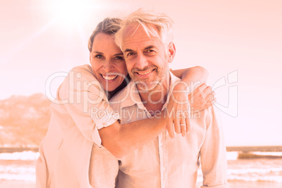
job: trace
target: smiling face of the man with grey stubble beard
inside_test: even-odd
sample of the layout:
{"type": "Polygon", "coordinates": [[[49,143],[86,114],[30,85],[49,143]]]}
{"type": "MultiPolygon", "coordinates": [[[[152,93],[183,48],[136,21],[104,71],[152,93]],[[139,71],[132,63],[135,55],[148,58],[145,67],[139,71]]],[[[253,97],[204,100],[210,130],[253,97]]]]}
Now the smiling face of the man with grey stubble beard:
{"type": "Polygon", "coordinates": [[[135,25],[126,27],[122,50],[128,74],[139,90],[152,90],[166,78],[168,52],[161,39],[147,36],[141,26],[137,30],[135,25]]]}

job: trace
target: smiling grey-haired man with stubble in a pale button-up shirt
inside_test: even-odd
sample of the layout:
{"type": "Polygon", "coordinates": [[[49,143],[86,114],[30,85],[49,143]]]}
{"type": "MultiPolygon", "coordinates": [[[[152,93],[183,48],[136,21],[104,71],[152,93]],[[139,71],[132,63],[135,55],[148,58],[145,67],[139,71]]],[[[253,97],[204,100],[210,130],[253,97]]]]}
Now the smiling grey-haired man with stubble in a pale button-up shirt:
{"type": "MultiPolygon", "coordinates": [[[[169,105],[179,81],[168,68],[175,55],[172,30],[173,21],[160,13],[138,10],[123,20],[116,43],[132,81],[111,100],[121,123],[157,115],[169,105]]],[[[119,159],[116,187],[194,187],[199,158],[203,187],[229,187],[222,128],[213,107],[191,116],[191,122],[185,137],[178,134],[171,139],[164,131],[119,159]]]]}

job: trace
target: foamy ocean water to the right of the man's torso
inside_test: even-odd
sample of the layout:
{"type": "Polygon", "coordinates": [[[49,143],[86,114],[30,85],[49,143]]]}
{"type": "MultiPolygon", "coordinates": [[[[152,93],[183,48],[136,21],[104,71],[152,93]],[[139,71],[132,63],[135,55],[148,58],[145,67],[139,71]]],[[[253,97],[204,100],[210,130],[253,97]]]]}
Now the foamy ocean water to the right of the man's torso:
{"type": "MultiPolygon", "coordinates": [[[[238,159],[240,153],[227,152],[227,175],[230,183],[269,182],[277,184],[277,188],[282,187],[282,152],[248,152],[244,154],[246,159],[238,159]],[[271,159],[271,156],[276,158],[271,159]]],[[[197,182],[202,182],[201,169],[198,177],[197,182]]]]}

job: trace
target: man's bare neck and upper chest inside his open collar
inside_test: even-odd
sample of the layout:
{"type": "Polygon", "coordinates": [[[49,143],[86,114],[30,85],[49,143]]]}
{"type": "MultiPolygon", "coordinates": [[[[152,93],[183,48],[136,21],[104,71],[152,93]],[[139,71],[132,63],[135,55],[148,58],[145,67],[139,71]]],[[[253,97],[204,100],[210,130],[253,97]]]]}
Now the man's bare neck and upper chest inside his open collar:
{"type": "Polygon", "coordinates": [[[166,103],[168,98],[169,86],[170,86],[170,75],[168,74],[166,78],[158,84],[152,90],[140,90],[140,98],[146,107],[146,109],[151,113],[161,111],[163,105],[166,103]]]}

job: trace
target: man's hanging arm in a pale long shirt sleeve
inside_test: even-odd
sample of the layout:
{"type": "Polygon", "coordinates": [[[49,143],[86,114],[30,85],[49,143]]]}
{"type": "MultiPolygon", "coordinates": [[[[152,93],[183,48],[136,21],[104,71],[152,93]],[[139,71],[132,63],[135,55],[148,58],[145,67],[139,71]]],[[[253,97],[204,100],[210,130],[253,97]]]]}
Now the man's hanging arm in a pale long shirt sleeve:
{"type": "Polygon", "coordinates": [[[228,188],[222,126],[213,106],[206,109],[206,113],[206,136],[200,151],[203,187],[228,188]]]}

